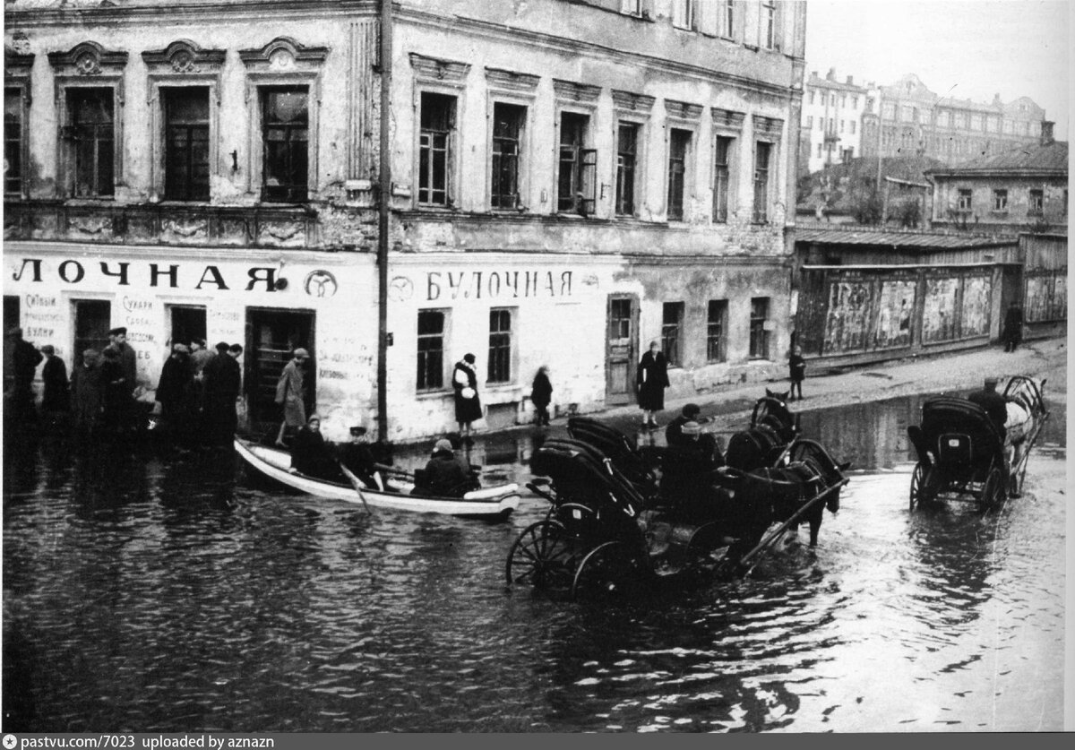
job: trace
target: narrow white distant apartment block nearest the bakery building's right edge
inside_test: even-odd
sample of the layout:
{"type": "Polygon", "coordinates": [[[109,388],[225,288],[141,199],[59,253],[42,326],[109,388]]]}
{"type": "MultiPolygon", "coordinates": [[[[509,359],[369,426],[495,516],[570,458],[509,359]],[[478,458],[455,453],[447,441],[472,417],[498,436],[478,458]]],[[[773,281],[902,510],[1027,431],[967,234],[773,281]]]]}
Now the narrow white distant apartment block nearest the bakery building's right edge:
{"type": "Polygon", "coordinates": [[[836,69],[825,77],[814,71],[803,86],[800,162],[817,172],[862,156],[862,115],[870,89],[852,76],[836,80],[836,69]]]}

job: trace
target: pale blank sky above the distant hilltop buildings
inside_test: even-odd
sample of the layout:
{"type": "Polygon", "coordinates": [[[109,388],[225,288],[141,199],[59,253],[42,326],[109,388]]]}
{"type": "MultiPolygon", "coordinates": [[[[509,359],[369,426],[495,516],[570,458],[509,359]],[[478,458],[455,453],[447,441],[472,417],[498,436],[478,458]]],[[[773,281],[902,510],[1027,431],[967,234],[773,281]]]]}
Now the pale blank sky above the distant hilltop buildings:
{"type": "Polygon", "coordinates": [[[940,96],[1030,97],[1067,140],[1066,0],[807,0],[806,74],[891,84],[917,73],[940,96]]]}

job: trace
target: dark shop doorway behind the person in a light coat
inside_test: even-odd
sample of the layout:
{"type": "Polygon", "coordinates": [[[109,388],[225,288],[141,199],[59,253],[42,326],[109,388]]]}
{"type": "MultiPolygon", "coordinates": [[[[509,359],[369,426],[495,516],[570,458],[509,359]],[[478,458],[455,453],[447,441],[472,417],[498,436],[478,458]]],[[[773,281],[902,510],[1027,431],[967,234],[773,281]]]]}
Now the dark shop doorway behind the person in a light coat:
{"type": "Polygon", "coordinates": [[[313,311],[248,307],[246,309],[246,372],[244,383],[250,428],[263,431],[280,424],[283,412],[276,405],[276,380],[291,352],[302,347],[306,362],[306,414],[317,405],[317,352],[314,350],[313,311]]]}

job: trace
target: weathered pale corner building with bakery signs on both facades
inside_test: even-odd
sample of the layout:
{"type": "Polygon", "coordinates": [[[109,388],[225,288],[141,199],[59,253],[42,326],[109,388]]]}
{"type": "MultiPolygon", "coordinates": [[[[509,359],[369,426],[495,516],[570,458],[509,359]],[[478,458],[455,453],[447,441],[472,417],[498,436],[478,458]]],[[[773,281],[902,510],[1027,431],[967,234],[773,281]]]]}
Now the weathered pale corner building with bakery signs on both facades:
{"type": "Polygon", "coordinates": [[[239,341],[247,424],[313,354],[324,429],[376,423],[376,207],[389,201],[395,441],[783,373],[805,5],[56,2],[5,8],[5,314],[71,361],[115,324],[152,399],[172,341],[239,341]],[[390,67],[391,184],[381,185],[390,67]],[[15,132],[9,127],[9,133],[15,132]]]}

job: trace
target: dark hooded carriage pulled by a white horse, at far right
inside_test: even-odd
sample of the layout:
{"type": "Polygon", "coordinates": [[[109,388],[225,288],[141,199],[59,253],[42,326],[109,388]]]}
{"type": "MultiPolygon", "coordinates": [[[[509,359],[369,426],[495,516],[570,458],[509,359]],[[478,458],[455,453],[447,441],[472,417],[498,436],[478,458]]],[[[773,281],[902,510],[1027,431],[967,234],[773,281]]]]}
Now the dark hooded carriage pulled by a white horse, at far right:
{"type": "Polygon", "coordinates": [[[928,399],[921,424],[907,428],[918,453],[911,475],[911,509],[950,497],[972,500],[990,510],[1021,494],[1027,459],[1049,417],[1044,386],[1045,380],[1021,375],[1008,380],[1004,432],[981,406],[966,399],[928,399]]]}

